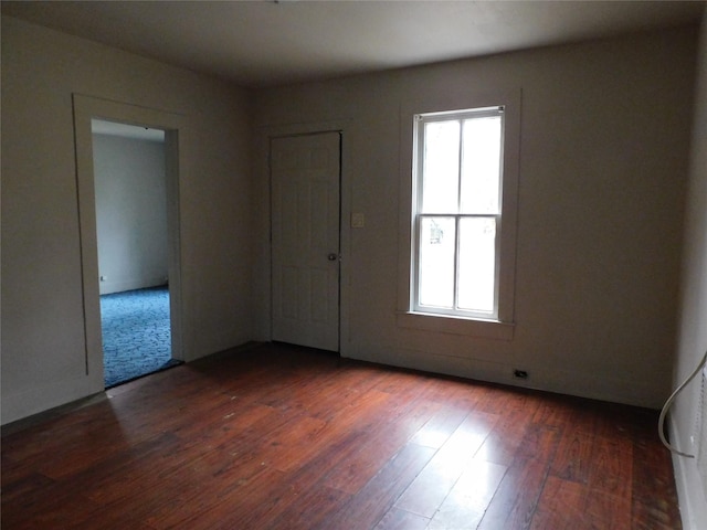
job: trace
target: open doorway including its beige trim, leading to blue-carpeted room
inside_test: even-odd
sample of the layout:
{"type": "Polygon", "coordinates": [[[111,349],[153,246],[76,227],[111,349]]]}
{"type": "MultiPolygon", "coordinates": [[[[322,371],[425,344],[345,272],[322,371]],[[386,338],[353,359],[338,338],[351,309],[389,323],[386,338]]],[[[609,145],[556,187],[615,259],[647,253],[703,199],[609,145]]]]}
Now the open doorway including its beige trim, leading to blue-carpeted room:
{"type": "MultiPolygon", "coordinates": [[[[86,378],[88,390],[99,392],[186,360],[179,222],[186,119],[81,94],[73,103],[86,378]],[[141,336],[112,339],[104,303],[128,295],[113,312],[141,336]],[[104,335],[106,346],[113,340],[137,358],[136,365],[145,363],[147,346],[157,344],[165,357],[116,377],[104,365],[110,353],[104,356],[104,335]]],[[[129,362],[117,363],[124,369],[129,362]]]]}

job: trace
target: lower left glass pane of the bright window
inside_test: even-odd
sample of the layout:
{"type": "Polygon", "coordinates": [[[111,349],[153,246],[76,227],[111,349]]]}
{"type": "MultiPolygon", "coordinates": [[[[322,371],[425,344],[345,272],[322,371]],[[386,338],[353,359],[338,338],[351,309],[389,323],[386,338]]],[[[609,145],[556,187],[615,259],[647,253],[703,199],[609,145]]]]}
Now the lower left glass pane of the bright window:
{"type": "Polygon", "coordinates": [[[454,218],[422,219],[418,262],[421,306],[454,306],[454,218]]]}

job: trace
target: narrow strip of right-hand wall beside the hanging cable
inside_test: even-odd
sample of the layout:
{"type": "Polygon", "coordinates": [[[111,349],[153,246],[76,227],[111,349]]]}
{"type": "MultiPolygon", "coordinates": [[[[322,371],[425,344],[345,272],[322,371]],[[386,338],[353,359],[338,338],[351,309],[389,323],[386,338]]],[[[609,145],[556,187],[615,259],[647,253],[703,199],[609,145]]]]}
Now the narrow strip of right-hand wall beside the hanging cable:
{"type": "MultiPolygon", "coordinates": [[[[689,184],[685,215],[685,244],[682,269],[677,358],[674,386],[677,388],[707,351],[707,12],[703,19],[696,105],[693,120],[689,184]]],[[[704,373],[707,374],[707,371],[704,373]]],[[[699,375],[675,401],[672,413],[671,441],[680,451],[697,458],[674,456],[675,478],[686,529],[707,527],[707,483],[698,466],[707,459],[707,411],[700,411],[699,375]]]]}

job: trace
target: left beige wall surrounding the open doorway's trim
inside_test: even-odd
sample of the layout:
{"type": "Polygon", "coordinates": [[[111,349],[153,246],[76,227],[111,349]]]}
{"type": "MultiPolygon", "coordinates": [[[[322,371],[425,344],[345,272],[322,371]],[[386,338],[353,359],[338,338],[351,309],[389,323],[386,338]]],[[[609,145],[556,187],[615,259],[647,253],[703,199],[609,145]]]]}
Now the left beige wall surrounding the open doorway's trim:
{"type": "Polygon", "coordinates": [[[184,359],[250,340],[249,93],[9,17],[1,39],[2,423],[103,390],[86,374],[72,94],[184,116],[184,359]]]}

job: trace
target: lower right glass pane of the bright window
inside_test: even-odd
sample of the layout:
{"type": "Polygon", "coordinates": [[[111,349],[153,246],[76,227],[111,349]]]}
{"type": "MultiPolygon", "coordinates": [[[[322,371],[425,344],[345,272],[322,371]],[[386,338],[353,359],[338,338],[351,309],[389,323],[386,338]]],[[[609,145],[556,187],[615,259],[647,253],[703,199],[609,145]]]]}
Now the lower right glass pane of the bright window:
{"type": "Polygon", "coordinates": [[[494,311],[496,269],[496,220],[462,218],[460,220],[460,309],[494,311]]]}

